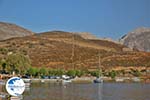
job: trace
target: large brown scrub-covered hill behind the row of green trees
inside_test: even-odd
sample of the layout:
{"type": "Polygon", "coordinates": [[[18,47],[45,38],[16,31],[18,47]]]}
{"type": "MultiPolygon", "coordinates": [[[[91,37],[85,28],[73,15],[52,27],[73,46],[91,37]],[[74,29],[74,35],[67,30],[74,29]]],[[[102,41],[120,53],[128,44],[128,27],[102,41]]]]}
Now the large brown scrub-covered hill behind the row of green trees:
{"type": "Polygon", "coordinates": [[[149,66],[150,54],[124,51],[123,45],[104,40],[84,39],[69,32],[52,31],[0,42],[0,58],[22,52],[33,67],[97,69],[101,67],[149,66]]]}

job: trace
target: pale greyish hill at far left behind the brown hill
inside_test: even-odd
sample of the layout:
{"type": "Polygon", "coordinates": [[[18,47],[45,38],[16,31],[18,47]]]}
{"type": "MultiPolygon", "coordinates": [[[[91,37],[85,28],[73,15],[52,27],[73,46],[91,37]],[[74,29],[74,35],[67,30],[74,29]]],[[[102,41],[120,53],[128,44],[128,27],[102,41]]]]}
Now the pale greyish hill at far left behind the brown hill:
{"type": "Polygon", "coordinates": [[[33,32],[15,24],[0,22],[0,40],[6,40],[14,37],[23,37],[33,34],[33,32]]]}

